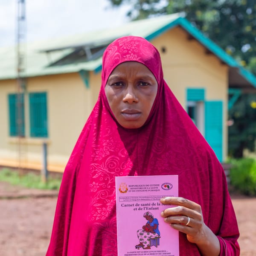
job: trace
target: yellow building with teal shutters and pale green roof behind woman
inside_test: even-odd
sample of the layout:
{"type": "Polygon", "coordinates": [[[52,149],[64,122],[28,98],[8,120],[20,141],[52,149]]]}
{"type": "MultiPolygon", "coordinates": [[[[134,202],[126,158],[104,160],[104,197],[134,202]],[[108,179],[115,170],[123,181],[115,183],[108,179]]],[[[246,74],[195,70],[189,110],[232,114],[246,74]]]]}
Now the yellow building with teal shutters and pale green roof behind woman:
{"type": "Polygon", "coordinates": [[[229,89],[254,88],[256,78],[185,18],[166,15],[27,45],[19,93],[15,49],[0,49],[0,166],[41,169],[46,143],[48,170],[64,171],[98,98],[102,53],[124,35],[157,47],[171,90],[225,160],[229,89]]]}

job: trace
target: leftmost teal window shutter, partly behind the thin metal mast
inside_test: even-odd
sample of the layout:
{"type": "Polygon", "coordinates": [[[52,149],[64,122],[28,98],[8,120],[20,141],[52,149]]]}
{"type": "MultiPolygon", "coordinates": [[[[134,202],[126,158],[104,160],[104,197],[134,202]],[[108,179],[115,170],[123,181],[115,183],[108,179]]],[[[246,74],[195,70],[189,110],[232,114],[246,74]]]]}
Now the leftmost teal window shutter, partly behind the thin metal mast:
{"type": "Polygon", "coordinates": [[[9,134],[10,136],[25,136],[24,125],[24,94],[12,93],[9,101],[9,134]]]}

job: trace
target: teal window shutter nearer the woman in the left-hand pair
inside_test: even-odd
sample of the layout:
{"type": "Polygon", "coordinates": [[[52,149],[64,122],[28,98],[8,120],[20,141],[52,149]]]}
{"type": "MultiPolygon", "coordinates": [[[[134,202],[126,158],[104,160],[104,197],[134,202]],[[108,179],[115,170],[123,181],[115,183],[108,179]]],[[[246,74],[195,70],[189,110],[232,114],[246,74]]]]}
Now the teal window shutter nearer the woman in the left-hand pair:
{"type": "Polygon", "coordinates": [[[30,137],[48,137],[47,93],[29,93],[30,137]]]}

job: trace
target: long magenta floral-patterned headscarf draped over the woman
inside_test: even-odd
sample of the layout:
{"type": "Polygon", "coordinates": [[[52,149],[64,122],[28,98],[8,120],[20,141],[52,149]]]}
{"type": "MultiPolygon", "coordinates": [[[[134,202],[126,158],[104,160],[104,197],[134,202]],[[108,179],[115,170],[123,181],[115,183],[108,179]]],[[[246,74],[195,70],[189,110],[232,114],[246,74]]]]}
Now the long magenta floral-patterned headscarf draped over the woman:
{"type": "MultiPolygon", "coordinates": [[[[47,256],[117,256],[115,177],[132,175],[179,175],[179,195],[201,205],[220,255],[239,255],[221,164],[163,80],[157,49],[127,36],[104,52],[99,99],[64,172],[47,256]],[[138,129],[120,126],[105,96],[109,75],[125,61],[144,64],[158,82],[151,113],[138,129]]],[[[192,255],[200,255],[197,246],[180,233],[180,256],[192,255]]]]}

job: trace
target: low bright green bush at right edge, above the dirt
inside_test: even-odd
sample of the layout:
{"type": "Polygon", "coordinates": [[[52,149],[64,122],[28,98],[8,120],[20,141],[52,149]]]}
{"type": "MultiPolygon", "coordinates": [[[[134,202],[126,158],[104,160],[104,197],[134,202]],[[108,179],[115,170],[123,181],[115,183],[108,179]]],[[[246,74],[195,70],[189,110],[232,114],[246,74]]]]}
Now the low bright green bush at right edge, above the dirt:
{"type": "Polygon", "coordinates": [[[256,160],[241,158],[230,160],[230,184],[244,195],[256,195],[256,160]]]}

